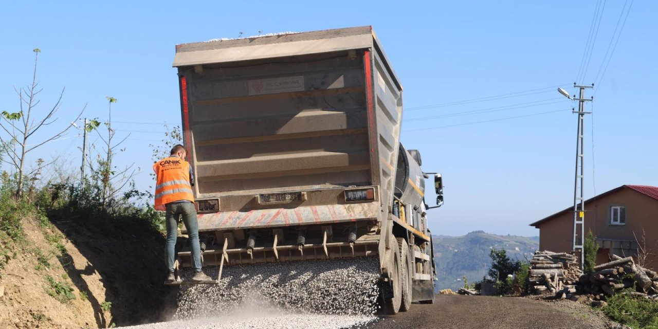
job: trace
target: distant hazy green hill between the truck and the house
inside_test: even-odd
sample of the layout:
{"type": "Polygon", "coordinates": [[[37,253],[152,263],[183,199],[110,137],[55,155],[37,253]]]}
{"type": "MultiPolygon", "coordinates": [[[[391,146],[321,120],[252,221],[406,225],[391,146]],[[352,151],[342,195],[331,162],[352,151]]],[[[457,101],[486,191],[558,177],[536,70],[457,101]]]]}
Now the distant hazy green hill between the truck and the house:
{"type": "Polygon", "coordinates": [[[532,253],[539,248],[538,236],[497,236],[474,231],[465,236],[432,238],[438,277],[437,291],[463,287],[463,276],[466,276],[469,284],[482,280],[491,265],[489,252],[492,247],[504,248],[511,259],[519,260],[532,258],[532,253]]]}

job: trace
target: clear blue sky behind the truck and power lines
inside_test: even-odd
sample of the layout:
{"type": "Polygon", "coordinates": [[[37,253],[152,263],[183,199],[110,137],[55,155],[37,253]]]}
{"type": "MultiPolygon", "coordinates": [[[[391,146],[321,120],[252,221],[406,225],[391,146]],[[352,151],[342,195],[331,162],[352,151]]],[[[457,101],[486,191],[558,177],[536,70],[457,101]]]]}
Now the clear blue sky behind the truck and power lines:
{"type": "MultiPolygon", "coordinates": [[[[619,33],[622,26],[624,1],[599,3],[603,14],[582,84],[603,73],[615,27],[619,33]]],[[[405,108],[414,110],[405,111],[403,143],[421,151],[424,170],[445,177],[445,205],[430,211],[433,232],[536,235],[530,222],[572,204],[576,114],[565,109],[576,104],[554,86],[575,92],[569,85],[596,7],[594,0],[5,2],[0,111],[16,110],[13,88],[30,83],[32,49],[39,47],[38,109],[52,105],[65,86],[57,124],[66,125],[86,103],[85,116],[105,120],[105,97],[116,97],[117,136],[134,131],[116,161],[140,166],[138,187],[147,189],[149,143],[163,138],[164,122],[180,124],[171,67],[176,43],[372,25],[405,87],[405,108]],[[528,90],[534,91],[519,93],[528,90]],[[509,93],[515,94],[462,102],[509,93]],[[445,106],[453,102],[461,103],[445,106]],[[565,111],[546,113],[557,110],[565,111]],[[537,113],[545,114],[498,120],[537,113]]],[[[654,1],[632,4],[605,76],[588,91],[595,101],[586,121],[587,197],[593,183],[597,193],[622,184],[658,186],[657,12],[654,1]]],[[[38,156],[63,154],[68,164],[60,167],[76,170],[78,135],[49,143],[38,156]]]]}

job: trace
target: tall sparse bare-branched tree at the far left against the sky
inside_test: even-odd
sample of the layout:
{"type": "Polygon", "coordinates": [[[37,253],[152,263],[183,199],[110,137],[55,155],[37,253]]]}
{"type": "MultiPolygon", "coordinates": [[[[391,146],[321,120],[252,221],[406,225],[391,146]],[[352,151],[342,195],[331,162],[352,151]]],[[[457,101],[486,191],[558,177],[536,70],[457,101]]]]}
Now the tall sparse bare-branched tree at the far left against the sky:
{"type": "MultiPolygon", "coordinates": [[[[61,107],[64,89],[66,89],[62,89],[61,93],[59,93],[59,98],[55,102],[55,105],[53,105],[53,107],[51,107],[48,111],[41,113],[41,115],[36,112],[36,107],[40,102],[38,95],[43,90],[39,88],[39,84],[37,82],[37,66],[41,49],[36,48],[33,51],[34,72],[32,74],[32,84],[20,89],[14,88],[18,94],[18,98],[20,99],[19,110],[14,113],[9,113],[7,111],[2,111],[0,113],[0,128],[2,128],[2,130],[9,135],[9,138],[7,138],[0,134],[0,147],[7,155],[7,159],[1,159],[1,161],[13,166],[14,170],[16,170],[16,197],[22,197],[26,176],[31,176],[32,174],[40,172],[40,170],[45,166],[48,166],[55,161],[53,160],[51,162],[45,162],[39,159],[36,168],[30,172],[26,172],[26,155],[35,149],[38,149],[45,143],[48,143],[49,141],[62,138],[64,134],[66,134],[66,132],[72,127],[72,124],[67,124],[65,128],[62,128],[59,130],[59,132],[51,135],[49,138],[45,138],[41,141],[32,143],[32,136],[34,136],[34,133],[36,133],[44,126],[49,126],[50,124],[53,124],[55,121],[57,121],[57,118],[54,116],[57,114],[57,111],[59,111],[61,107]],[[28,141],[30,143],[28,143],[28,141]]],[[[80,114],[78,114],[78,116],[72,121],[78,120],[78,118],[80,118],[82,115],[82,112],[84,112],[84,107],[82,108],[82,111],[80,111],[80,114]]]]}

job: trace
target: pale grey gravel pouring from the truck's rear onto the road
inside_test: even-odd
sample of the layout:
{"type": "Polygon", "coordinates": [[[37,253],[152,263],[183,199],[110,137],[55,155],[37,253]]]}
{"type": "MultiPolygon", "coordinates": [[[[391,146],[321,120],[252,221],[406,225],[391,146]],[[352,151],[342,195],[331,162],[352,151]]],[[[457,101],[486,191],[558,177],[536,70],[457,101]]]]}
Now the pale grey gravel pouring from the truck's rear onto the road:
{"type": "Polygon", "coordinates": [[[172,321],[124,328],[364,326],[377,319],[378,267],[376,257],[224,266],[219,284],[180,287],[172,321]]]}

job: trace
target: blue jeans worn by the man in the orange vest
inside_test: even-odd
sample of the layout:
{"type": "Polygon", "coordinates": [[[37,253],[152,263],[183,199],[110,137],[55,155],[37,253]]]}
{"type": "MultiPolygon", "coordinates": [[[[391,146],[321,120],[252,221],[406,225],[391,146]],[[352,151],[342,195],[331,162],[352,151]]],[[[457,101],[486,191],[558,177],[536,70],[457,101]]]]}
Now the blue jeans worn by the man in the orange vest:
{"type": "Polygon", "coordinates": [[[199,224],[197,211],[191,202],[172,202],[166,204],[166,266],[169,272],[174,272],[174,257],[176,256],[176,237],[178,222],[183,217],[183,223],[188,229],[190,249],[192,251],[192,267],[195,272],[201,271],[201,247],[199,246],[199,224]]]}

